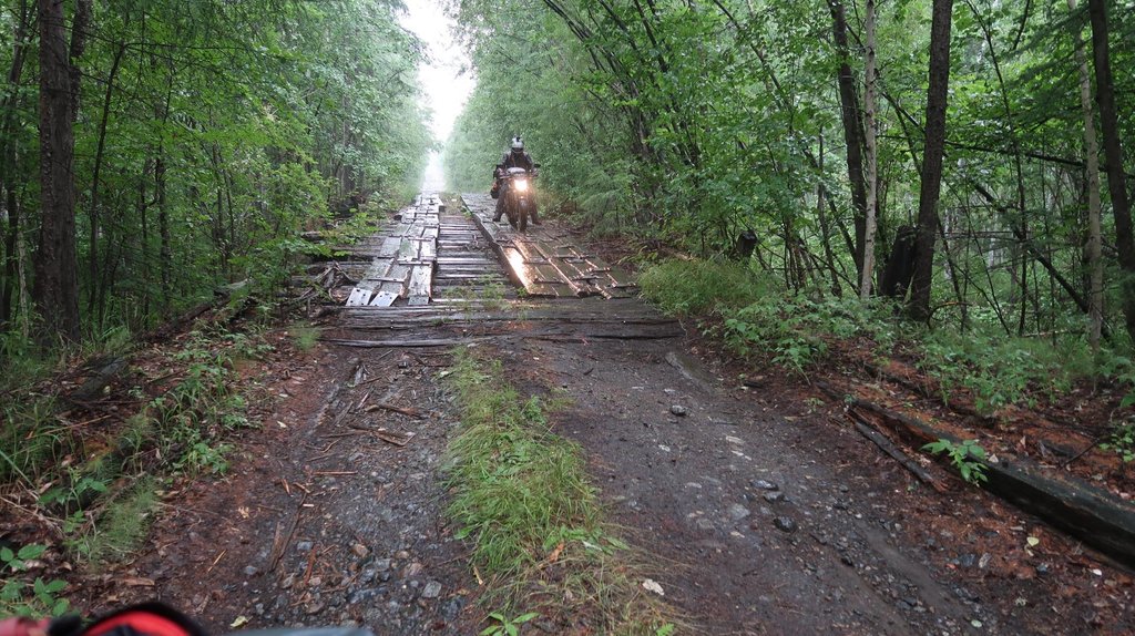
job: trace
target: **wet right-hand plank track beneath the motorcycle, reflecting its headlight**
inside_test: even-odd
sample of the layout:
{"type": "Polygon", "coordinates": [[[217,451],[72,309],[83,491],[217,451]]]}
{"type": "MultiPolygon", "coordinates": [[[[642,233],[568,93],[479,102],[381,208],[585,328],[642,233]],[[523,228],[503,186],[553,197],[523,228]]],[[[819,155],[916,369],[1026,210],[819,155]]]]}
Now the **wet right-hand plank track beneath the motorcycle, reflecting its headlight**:
{"type": "Polygon", "coordinates": [[[488,195],[465,194],[462,200],[473,221],[493,241],[510,278],[529,296],[637,296],[638,287],[630,273],[574,245],[568,232],[531,224],[527,232],[519,232],[504,219],[493,221],[496,202],[488,195]]]}

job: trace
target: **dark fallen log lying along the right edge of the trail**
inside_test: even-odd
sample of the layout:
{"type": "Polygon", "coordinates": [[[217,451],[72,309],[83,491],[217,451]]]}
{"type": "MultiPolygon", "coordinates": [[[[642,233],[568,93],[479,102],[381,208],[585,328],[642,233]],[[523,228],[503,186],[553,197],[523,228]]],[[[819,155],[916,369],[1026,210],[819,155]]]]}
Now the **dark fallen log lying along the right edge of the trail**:
{"type": "MultiPolygon", "coordinates": [[[[916,448],[938,440],[961,443],[957,436],[938,431],[909,415],[897,413],[868,400],[848,396],[830,384],[817,387],[850,409],[871,414],[916,448]]],[[[985,463],[986,481],[980,485],[1036,515],[1053,527],[1095,548],[1118,562],[1135,568],[1135,504],[1073,477],[1054,477],[1051,470],[1026,459],[985,463]]]]}

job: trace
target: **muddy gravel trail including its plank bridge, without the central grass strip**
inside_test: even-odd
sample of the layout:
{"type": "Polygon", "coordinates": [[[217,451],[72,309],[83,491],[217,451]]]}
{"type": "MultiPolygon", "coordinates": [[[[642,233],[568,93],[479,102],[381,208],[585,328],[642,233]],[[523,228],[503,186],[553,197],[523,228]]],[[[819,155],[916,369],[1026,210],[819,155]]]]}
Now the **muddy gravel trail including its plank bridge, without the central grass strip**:
{"type": "Polygon", "coordinates": [[[554,222],[518,237],[465,203],[423,197],[351,249],[360,282],[276,374],[228,476],[167,493],[150,548],[81,604],[158,597],[216,633],[480,631],[493,608],[444,515],[444,376],[466,345],[522,395],[566,398],[555,431],[691,633],[1135,630],[1121,568],[976,489],[920,487],[842,404],[773,368],[741,384],[554,222]],[[515,258],[529,275],[502,265],[515,258]]]}

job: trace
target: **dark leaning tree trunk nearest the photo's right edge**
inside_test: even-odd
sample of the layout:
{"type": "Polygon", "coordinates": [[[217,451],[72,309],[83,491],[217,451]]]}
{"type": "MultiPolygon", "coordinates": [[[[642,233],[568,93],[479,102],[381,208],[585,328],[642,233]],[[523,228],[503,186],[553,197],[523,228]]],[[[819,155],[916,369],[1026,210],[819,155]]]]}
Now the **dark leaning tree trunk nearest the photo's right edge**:
{"type": "Polygon", "coordinates": [[[1087,0],[1092,20],[1092,52],[1095,60],[1095,101],[1100,104],[1100,126],[1103,128],[1103,156],[1108,168],[1108,192],[1111,212],[1116,218],[1116,249],[1123,271],[1120,297],[1127,333],[1135,339],[1135,240],[1132,237],[1130,201],[1124,176],[1124,153],[1119,145],[1119,119],[1116,115],[1115,85],[1108,54],[1107,0],[1087,0]]]}

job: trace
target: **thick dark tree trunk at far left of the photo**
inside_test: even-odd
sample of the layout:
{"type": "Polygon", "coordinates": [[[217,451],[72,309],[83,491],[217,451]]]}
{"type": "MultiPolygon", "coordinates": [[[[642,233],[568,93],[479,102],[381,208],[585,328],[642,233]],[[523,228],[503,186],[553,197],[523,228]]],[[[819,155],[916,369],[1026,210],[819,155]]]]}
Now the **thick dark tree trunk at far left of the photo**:
{"type": "Polygon", "coordinates": [[[78,68],[89,0],[79,0],[68,51],[62,0],[39,0],[40,180],[43,218],[35,252],[33,295],[44,345],[79,339],[78,263],[75,251],[75,135],[78,68]]]}

